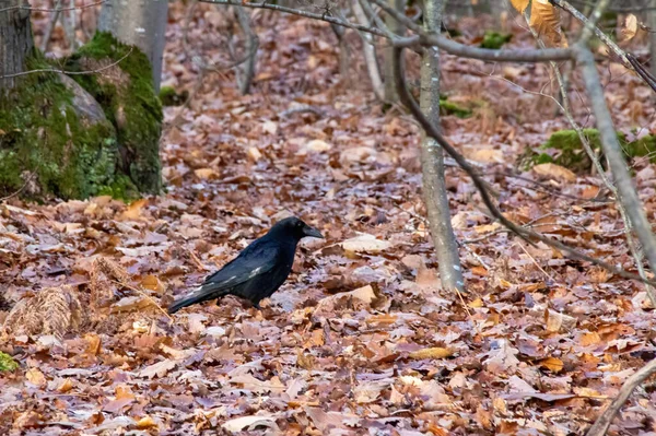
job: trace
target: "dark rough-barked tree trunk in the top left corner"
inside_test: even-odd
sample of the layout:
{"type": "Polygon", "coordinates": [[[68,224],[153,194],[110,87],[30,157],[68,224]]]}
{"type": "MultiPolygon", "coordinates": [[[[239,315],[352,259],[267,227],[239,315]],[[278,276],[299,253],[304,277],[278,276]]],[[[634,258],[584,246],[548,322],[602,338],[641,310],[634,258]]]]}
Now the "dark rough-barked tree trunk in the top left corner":
{"type": "Polygon", "coordinates": [[[25,71],[25,61],[34,49],[30,10],[25,0],[9,0],[2,3],[0,12],[0,94],[16,86],[19,78],[4,78],[25,71]],[[14,9],[10,9],[14,8],[14,9]],[[4,78],[4,79],[2,79],[4,78]]]}

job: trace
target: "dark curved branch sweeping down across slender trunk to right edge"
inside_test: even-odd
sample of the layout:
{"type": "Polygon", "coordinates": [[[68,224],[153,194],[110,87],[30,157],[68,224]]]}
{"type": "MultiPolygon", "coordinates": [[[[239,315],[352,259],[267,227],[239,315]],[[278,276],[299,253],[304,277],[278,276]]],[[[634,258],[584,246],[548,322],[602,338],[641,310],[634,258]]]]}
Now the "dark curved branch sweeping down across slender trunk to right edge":
{"type": "MultiPolygon", "coordinates": [[[[633,274],[621,268],[610,264],[606,261],[602,261],[602,260],[596,259],[594,257],[590,257],[588,255],[585,255],[585,254],[583,254],[572,247],[569,247],[565,244],[562,244],[553,238],[550,238],[542,234],[524,228],[524,227],[513,223],[508,219],[506,219],[503,215],[503,213],[499,210],[496,204],[494,204],[494,202],[492,201],[492,198],[490,197],[488,190],[485,189],[484,180],[478,175],[476,169],[467,162],[467,160],[460,153],[458,153],[458,151],[456,149],[454,149],[454,146],[448,141],[446,141],[446,139],[440,132],[438,128],[435,127],[433,123],[431,123],[426,119],[426,117],[423,115],[423,113],[417,105],[417,102],[414,102],[414,98],[412,98],[412,95],[408,91],[406,80],[403,79],[403,75],[402,75],[402,61],[401,61],[402,54],[403,54],[403,47],[395,46],[395,58],[394,58],[395,79],[397,81],[397,89],[399,92],[399,96],[401,97],[401,102],[403,102],[403,104],[410,109],[410,113],[417,118],[417,120],[419,121],[421,127],[424,129],[426,134],[430,135],[431,138],[433,138],[435,141],[437,141],[437,143],[440,143],[440,145],[442,145],[442,148],[469,175],[469,177],[473,181],[473,185],[478,189],[478,191],[483,200],[483,203],[485,204],[485,207],[488,208],[488,210],[490,211],[490,213],[492,214],[492,216],[494,219],[496,219],[501,224],[503,224],[504,226],[506,226],[507,228],[513,231],[513,233],[517,234],[519,237],[522,237],[523,239],[525,239],[529,243],[530,243],[531,238],[540,240],[552,248],[555,248],[558,250],[561,250],[561,251],[567,254],[571,258],[597,264],[597,266],[605,268],[606,270],[612,272],[613,274],[617,274],[624,279],[637,280],[640,282],[656,285],[656,281],[654,281],[654,280],[645,280],[637,274],[633,274]]],[[[594,61],[594,59],[593,59],[593,61],[594,61]]],[[[594,64],[593,64],[593,67],[594,67],[594,64]]]]}

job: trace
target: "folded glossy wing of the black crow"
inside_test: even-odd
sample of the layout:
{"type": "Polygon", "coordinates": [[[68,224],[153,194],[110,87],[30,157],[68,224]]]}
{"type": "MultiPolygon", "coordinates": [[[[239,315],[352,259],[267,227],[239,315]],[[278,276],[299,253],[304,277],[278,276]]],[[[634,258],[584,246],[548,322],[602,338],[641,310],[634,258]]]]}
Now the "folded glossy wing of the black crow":
{"type": "Polygon", "coordinates": [[[221,270],[208,276],[201,287],[212,292],[242,284],[273,269],[280,255],[280,246],[271,240],[256,240],[221,270]]]}

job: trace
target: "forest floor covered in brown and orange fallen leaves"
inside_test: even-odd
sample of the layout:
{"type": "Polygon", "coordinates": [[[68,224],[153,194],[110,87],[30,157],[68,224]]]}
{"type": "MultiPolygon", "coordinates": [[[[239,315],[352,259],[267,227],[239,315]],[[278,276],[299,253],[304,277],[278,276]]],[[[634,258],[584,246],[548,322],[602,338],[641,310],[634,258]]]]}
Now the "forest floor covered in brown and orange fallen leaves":
{"type": "MultiPolygon", "coordinates": [[[[164,84],[191,91],[191,57],[225,59],[230,23],[198,7],[189,52],[184,13],[172,3],[164,84]]],[[[459,20],[461,40],[480,40],[482,20],[459,20]]],[[[359,36],[349,34],[341,76],[326,23],[262,11],[254,21],[253,94],[238,95],[231,71],[209,72],[188,107],[166,108],[165,193],[129,205],[106,197],[0,203],[0,322],[47,288],[81,302],[71,311],[44,297],[47,315],[37,320],[56,331],[61,318],[77,331],[13,334],[0,345],[20,363],[0,376],[0,434],[583,434],[656,355],[644,288],[503,232],[449,166],[468,293],[441,290],[421,200],[420,131],[373,98],[359,36]],[[290,213],[326,239],[302,243],[294,272],[262,311],[227,297],[163,313],[290,213]]],[[[513,47],[532,47],[512,28],[513,47]]],[[[502,210],[635,271],[614,203],[597,201],[608,195],[598,177],[505,175],[526,149],[567,128],[549,96],[548,67],[448,55],[442,62],[444,94],[473,107],[470,118],[445,116],[445,133],[482,165],[502,210]]],[[[655,132],[651,90],[621,66],[601,64],[618,127],[655,132]]],[[[578,79],[574,115],[593,127],[578,79]]],[[[633,167],[653,219],[654,166],[633,167]]],[[[612,434],[654,434],[654,404],[653,385],[641,388],[612,434]]]]}

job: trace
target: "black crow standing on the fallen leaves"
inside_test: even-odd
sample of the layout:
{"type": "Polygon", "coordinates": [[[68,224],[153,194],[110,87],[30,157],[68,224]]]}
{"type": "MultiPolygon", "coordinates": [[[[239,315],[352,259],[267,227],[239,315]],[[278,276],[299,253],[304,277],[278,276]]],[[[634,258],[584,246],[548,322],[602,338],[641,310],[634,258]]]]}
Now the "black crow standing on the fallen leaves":
{"type": "Polygon", "coordinates": [[[239,256],[208,276],[200,287],[172,304],[168,313],[224,295],[248,299],[259,309],[259,302],[278,291],[290,275],[296,245],[306,236],[324,237],[318,229],[295,216],[279,221],[265,236],[250,243],[239,256]]]}

